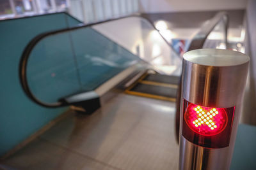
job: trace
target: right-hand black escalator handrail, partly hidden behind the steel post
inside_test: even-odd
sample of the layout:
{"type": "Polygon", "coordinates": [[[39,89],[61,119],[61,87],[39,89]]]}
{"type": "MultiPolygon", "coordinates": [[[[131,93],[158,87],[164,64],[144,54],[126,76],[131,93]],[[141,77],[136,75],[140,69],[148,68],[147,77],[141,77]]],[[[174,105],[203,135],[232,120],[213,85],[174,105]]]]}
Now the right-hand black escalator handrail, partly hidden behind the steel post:
{"type": "MultiPolygon", "coordinates": [[[[219,12],[217,13],[211,20],[206,22],[204,25],[202,25],[201,29],[192,39],[190,46],[188,48],[188,51],[190,50],[196,50],[203,48],[205,40],[209,36],[209,34],[212,32],[214,27],[216,27],[221,20],[224,21],[225,26],[225,43],[227,46],[227,30],[228,30],[228,14],[226,12],[219,12]]],[[[179,88],[177,90],[177,102],[176,102],[176,114],[175,114],[175,132],[176,132],[176,139],[177,143],[179,143],[179,129],[180,129],[180,103],[181,103],[181,77],[180,77],[180,83],[179,88]]]]}

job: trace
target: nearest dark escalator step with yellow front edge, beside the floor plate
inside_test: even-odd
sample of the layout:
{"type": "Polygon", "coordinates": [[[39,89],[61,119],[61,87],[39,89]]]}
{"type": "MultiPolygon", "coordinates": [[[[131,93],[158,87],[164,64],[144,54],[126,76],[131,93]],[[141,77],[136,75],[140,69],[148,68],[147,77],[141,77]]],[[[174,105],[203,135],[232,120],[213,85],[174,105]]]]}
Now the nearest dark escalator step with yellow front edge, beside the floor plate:
{"type": "Polygon", "coordinates": [[[143,97],[151,97],[154,99],[175,101],[177,89],[138,83],[132,87],[131,90],[127,90],[126,93],[143,97]]]}

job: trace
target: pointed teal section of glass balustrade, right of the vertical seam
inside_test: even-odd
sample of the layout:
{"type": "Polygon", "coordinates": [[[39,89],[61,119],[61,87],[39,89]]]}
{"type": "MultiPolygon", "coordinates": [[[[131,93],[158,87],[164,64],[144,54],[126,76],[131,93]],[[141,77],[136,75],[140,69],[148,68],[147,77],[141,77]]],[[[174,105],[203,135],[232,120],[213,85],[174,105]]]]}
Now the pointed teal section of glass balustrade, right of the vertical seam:
{"type": "Polygon", "coordinates": [[[93,90],[140,60],[92,28],[72,31],[83,90],[93,90]]]}

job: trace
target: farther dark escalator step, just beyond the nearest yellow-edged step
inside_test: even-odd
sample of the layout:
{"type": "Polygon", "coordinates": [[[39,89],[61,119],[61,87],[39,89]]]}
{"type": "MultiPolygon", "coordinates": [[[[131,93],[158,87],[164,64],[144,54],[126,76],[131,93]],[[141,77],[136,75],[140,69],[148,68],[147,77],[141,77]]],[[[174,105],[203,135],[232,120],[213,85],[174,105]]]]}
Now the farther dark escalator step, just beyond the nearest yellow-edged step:
{"type": "Polygon", "coordinates": [[[163,75],[163,74],[148,74],[143,80],[178,85],[180,82],[180,77],[179,76],[168,76],[168,75],[163,75]]]}

